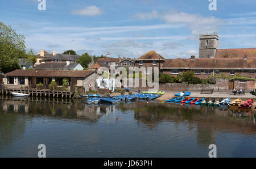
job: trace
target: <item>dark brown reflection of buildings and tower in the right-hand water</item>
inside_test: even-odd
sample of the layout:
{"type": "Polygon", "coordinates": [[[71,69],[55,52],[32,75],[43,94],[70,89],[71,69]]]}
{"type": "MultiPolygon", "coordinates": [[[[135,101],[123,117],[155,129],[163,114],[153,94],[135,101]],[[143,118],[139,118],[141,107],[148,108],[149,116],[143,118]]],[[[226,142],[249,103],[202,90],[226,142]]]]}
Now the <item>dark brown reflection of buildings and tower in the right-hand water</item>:
{"type": "MultiPolygon", "coordinates": [[[[159,104],[136,102],[134,119],[139,125],[155,128],[162,121],[169,121],[175,126],[187,124],[195,128],[198,145],[209,145],[216,142],[216,132],[256,134],[253,124],[254,114],[246,111],[222,111],[218,107],[185,106],[180,104],[159,104]],[[243,126],[243,127],[241,127],[243,126]]],[[[123,105],[124,107],[126,105],[123,105]]]]}

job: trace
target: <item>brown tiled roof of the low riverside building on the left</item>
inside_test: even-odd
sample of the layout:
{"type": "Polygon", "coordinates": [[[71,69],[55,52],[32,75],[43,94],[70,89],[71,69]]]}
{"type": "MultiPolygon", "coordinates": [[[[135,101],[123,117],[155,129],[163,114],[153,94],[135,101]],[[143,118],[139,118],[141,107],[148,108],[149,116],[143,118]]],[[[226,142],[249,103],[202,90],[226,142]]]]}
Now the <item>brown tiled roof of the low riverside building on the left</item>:
{"type": "Polygon", "coordinates": [[[14,70],[4,74],[7,77],[60,77],[84,78],[94,73],[92,70],[14,70]]]}

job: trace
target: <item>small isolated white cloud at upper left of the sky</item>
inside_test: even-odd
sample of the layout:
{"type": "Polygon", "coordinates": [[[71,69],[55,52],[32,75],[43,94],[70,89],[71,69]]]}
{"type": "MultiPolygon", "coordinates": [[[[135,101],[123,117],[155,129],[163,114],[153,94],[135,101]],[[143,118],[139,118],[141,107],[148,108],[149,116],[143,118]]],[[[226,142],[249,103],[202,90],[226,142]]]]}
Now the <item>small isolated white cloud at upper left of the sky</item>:
{"type": "Polygon", "coordinates": [[[103,12],[104,11],[99,9],[97,6],[88,6],[88,7],[85,7],[84,9],[72,10],[71,14],[85,15],[85,16],[97,16],[97,15],[101,15],[103,12]]]}

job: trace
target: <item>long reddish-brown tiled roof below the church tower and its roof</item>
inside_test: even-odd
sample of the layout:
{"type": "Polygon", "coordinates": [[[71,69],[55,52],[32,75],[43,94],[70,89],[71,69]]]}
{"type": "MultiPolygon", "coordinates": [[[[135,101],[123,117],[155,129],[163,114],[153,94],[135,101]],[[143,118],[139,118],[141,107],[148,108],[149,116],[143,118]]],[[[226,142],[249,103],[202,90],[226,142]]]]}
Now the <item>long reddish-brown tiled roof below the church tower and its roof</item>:
{"type": "Polygon", "coordinates": [[[244,60],[243,58],[196,58],[191,60],[190,58],[177,58],[168,59],[164,62],[162,69],[167,69],[171,67],[180,68],[220,68],[220,69],[256,69],[256,57],[248,58],[244,60]]]}

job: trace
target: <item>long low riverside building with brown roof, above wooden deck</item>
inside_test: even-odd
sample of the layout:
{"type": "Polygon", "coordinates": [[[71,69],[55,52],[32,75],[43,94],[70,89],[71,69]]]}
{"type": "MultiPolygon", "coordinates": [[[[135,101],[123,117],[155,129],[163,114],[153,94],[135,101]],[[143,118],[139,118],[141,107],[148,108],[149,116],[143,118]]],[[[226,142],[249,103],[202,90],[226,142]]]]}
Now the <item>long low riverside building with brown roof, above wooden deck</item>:
{"type": "Polygon", "coordinates": [[[92,90],[96,90],[96,79],[100,75],[92,70],[14,70],[3,74],[3,84],[6,88],[28,89],[36,88],[36,84],[43,83],[43,88],[48,88],[52,81],[57,86],[63,86],[63,79],[68,79],[69,90],[74,92],[76,87],[84,86],[85,91],[89,90],[92,83],[92,90]]]}

